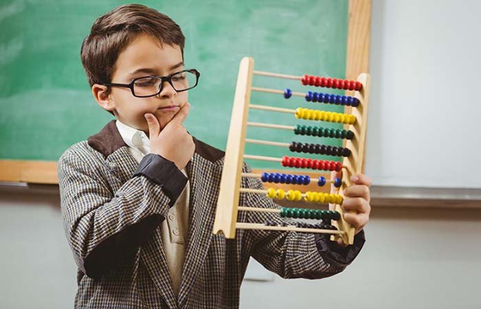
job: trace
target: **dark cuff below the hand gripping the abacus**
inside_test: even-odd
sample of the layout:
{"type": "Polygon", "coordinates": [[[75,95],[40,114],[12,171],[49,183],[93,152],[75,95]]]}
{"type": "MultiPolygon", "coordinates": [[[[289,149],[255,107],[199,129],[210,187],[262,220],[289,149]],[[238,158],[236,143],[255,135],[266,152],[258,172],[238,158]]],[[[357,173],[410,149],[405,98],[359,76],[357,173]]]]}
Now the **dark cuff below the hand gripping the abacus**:
{"type": "Polygon", "coordinates": [[[354,244],[342,247],[330,240],[331,236],[327,234],[315,234],[315,244],[322,258],[331,264],[331,266],[345,267],[357,257],[361,251],[364,242],[366,242],[366,236],[364,230],[357,233],[354,237],[354,244]]]}

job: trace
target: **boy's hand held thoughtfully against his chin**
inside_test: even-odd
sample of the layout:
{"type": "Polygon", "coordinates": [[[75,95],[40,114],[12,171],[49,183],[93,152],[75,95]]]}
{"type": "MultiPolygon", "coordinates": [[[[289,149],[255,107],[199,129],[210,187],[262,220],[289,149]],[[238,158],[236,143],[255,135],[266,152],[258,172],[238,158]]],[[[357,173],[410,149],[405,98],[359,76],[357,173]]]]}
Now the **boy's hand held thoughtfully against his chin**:
{"type": "Polygon", "coordinates": [[[148,124],[148,137],[150,139],[150,152],[172,161],[179,170],[186,167],[194,155],[195,144],[183,127],[183,121],[189,113],[190,104],[184,104],[177,114],[160,130],[159,120],[155,115],[144,115],[148,124]]]}

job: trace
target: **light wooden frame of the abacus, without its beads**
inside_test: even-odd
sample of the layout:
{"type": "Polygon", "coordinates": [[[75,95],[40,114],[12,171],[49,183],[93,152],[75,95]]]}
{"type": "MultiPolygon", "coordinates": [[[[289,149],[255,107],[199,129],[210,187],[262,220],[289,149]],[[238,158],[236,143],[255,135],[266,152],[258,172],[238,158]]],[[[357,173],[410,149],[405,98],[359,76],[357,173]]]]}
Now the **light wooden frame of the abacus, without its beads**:
{"type": "MultiPolygon", "coordinates": [[[[221,178],[221,190],[219,192],[219,199],[216,209],[216,218],[214,221],[213,233],[223,232],[226,238],[234,238],[236,229],[265,229],[278,231],[303,231],[312,233],[329,233],[331,240],[342,238],[346,244],[353,244],[354,242],[354,228],[343,218],[343,210],[340,205],[335,205],[335,211],[341,214],[338,222],[333,221],[333,225],[337,227],[337,231],[327,229],[308,229],[302,227],[272,227],[256,223],[236,222],[238,210],[243,211],[271,211],[271,209],[249,209],[249,207],[240,207],[239,199],[240,192],[247,192],[243,190],[241,185],[243,159],[254,159],[255,156],[245,156],[245,142],[247,131],[247,115],[250,108],[259,108],[250,104],[251,91],[264,91],[262,89],[252,87],[253,74],[272,76],[277,78],[298,79],[298,76],[286,76],[283,74],[268,73],[262,71],[254,71],[254,59],[245,57],[240,62],[238,79],[236,85],[236,94],[234,96],[234,106],[232,108],[232,117],[227,136],[227,147],[225,151],[225,163],[221,178]]],[[[353,131],[354,138],[346,139],[344,141],[347,148],[351,150],[351,155],[343,159],[343,173],[342,186],[339,188],[339,194],[346,186],[351,185],[350,176],[362,172],[363,157],[364,157],[364,141],[366,140],[367,129],[367,111],[368,111],[368,96],[369,96],[369,75],[361,73],[357,81],[362,84],[360,91],[355,91],[355,98],[359,100],[359,106],[351,109],[351,115],[354,115],[356,121],[354,124],[346,125],[348,130],[353,131]]],[[[277,93],[276,91],[267,91],[277,93]]],[[[270,110],[282,108],[267,108],[270,110]]]]}

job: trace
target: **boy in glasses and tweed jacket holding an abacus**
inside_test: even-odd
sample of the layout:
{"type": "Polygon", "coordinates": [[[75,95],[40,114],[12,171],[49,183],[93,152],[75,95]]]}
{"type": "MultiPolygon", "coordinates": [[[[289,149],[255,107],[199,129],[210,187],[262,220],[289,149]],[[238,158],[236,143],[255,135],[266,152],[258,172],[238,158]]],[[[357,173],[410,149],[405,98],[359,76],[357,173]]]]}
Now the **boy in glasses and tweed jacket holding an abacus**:
{"type": "MultiPolygon", "coordinates": [[[[76,308],[238,308],[252,256],[286,278],[344,270],[361,250],[370,179],[346,190],[353,246],[310,233],[212,234],[223,167],[221,150],[190,136],[183,121],[199,72],[186,69],[184,36],[168,16],[123,5],[100,16],[82,43],[93,97],[115,115],[88,141],[60,157],[67,239],[78,265],[76,308]]],[[[250,169],[244,165],[244,171],[250,169]]],[[[261,188],[254,179],[243,187],[261,188]]],[[[276,208],[246,194],[241,205],[276,208]]],[[[243,222],[278,220],[239,214],[243,222]]]]}

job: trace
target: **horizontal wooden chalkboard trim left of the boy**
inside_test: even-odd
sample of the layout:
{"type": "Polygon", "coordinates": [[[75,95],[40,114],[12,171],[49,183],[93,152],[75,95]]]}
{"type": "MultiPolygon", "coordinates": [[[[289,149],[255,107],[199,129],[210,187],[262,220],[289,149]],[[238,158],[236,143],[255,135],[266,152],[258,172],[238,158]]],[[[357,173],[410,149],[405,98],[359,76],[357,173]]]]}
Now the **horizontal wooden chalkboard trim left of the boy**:
{"type": "Polygon", "coordinates": [[[0,160],[0,181],[57,184],[56,161],[0,160]]]}

